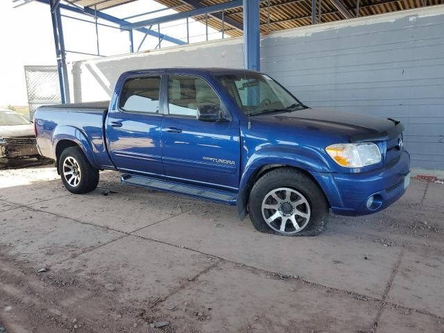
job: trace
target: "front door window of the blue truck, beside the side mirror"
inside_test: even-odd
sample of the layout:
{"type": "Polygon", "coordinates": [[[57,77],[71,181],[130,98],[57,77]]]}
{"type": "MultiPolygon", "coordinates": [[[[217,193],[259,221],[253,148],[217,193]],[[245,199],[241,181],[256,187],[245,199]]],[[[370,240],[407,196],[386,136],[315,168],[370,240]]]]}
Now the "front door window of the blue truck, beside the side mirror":
{"type": "Polygon", "coordinates": [[[219,96],[202,78],[173,75],[168,81],[169,114],[196,118],[199,106],[221,108],[219,96]]]}

